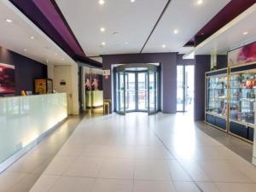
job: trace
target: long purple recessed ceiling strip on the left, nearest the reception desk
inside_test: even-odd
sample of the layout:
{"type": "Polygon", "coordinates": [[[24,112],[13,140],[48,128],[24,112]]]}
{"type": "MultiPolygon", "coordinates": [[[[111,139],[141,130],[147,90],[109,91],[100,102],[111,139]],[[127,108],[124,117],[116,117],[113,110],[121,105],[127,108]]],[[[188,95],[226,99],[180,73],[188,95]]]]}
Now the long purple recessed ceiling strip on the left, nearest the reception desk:
{"type": "Polygon", "coordinates": [[[100,62],[86,57],[54,0],[10,0],[10,2],[74,60],[87,61],[96,67],[101,65],[100,62]]]}

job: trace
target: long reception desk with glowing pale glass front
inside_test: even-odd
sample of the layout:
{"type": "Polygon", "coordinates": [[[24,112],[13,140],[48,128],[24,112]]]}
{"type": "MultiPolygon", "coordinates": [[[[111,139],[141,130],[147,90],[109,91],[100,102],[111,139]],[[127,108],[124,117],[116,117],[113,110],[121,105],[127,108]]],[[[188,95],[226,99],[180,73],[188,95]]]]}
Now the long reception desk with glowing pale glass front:
{"type": "Polygon", "coordinates": [[[0,172],[66,118],[66,93],[0,97],[0,172]]]}

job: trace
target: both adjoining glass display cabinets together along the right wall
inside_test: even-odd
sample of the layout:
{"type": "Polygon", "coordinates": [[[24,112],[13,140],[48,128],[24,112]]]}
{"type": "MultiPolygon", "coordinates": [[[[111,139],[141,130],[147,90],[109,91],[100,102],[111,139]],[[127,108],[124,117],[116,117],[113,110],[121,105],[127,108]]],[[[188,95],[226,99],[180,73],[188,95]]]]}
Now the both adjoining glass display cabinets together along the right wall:
{"type": "Polygon", "coordinates": [[[206,123],[253,142],[256,63],[206,73],[206,123]],[[246,69],[246,70],[245,70],[246,69]],[[220,73],[221,72],[221,73],[220,73]],[[214,74],[214,75],[212,75],[214,74]]]}

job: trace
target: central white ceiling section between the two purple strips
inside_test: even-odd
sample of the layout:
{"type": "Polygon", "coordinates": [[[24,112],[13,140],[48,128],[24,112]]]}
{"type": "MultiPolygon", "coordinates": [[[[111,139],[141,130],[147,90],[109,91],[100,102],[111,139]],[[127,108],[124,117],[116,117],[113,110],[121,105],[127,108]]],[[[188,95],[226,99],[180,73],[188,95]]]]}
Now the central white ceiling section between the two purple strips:
{"type": "Polygon", "coordinates": [[[191,48],[183,45],[230,0],[203,0],[201,4],[198,0],[137,0],[134,3],[131,0],[105,0],[103,5],[96,0],[77,0],[76,3],[56,0],[55,3],[86,55],[94,56],[186,53],[191,48]],[[105,32],[101,32],[101,27],[105,32]]]}

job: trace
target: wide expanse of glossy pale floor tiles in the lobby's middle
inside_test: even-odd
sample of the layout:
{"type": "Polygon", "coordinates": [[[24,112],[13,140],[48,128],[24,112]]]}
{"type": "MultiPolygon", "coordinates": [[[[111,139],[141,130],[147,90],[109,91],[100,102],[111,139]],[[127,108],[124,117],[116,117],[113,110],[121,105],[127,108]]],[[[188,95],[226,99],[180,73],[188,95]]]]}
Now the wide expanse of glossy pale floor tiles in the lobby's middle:
{"type": "Polygon", "coordinates": [[[113,114],[84,119],[30,191],[256,192],[256,167],[183,115],[113,114]]]}

